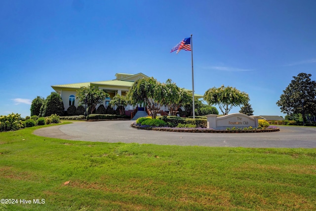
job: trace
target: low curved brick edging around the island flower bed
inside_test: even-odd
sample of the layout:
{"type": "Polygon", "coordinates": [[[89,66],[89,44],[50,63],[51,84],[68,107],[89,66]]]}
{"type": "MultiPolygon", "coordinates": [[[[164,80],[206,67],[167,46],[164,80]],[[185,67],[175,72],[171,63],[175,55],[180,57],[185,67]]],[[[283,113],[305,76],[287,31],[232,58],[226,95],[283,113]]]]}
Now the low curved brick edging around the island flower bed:
{"type": "Polygon", "coordinates": [[[135,124],[130,125],[132,128],[140,130],[153,130],[153,131],[168,131],[168,132],[187,132],[187,133],[266,133],[266,132],[277,132],[280,131],[279,128],[276,129],[263,129],[263,130],[201,130],[197,128],[192,129],[173,129],[173,128],[141,128],[135,124]]]}

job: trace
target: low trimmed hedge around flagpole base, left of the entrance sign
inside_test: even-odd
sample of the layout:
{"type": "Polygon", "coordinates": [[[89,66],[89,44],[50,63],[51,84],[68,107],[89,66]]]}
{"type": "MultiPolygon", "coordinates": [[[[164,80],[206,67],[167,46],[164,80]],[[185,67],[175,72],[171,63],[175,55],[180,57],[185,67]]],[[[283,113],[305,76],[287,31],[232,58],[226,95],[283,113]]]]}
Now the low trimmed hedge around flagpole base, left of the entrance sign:
{"type": "Polygon", "coordinates": [[[207,127],[207,119],[200,119],[200,118],[193,119],[193,118],[185,118],[185,117],[178,117],[178,116],[158,116],[157,118],[169,123],[170,127],[176,127],[178,124],[196,125],[197,128],[207,127]]]}

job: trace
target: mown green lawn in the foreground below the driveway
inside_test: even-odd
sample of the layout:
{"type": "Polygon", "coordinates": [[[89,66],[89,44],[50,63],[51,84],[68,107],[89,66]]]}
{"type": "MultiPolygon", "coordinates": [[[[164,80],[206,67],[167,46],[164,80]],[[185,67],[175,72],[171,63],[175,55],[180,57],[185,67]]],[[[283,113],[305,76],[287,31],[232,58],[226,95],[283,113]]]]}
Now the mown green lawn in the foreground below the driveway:
{"type": "Polygon", "coordinates": [[[40,127],[0,133],[0,199],[45,204],[0,210],[316,210],[316,149],[67,141],[40,127]]]}

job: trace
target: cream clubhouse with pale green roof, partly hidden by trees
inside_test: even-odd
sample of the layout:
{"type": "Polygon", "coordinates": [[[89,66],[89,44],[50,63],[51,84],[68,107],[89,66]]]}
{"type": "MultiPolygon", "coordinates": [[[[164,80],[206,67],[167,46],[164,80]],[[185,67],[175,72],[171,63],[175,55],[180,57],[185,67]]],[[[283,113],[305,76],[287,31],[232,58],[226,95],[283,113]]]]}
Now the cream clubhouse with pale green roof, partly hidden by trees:
{"type": "MultiPolygon", "coordinates": [[[[111,99],[118,95],[126,95],[126,92],[129,91],[133,83],[141,78],[149,78],[149,76],[143,73],[137,74],[128,74],[128,73],[116,73],[116,79],[114,80],[106,80],[106,81],[97,81],[97,82],[85,82],[85,83],[71,83],[71,84],[62,84],[62,85],[53,85],[51,86],[56,92],[58,92],[63,100],[65,110],[68,109],[69,106],[76,106],[80,105],[79,101],[76,99],[77,90],[80,87],[87,87],[87,86],[94,86],[98,89],[102,89],[107,92],[110,97],[104,99],[103,105],[108,106],[111,99]]],[[[192,91],[191,91],[192,92],[192,91]]],[[[195,95],[195,97],[201,98],[201,95],[195,95]]],[[[99,105],[100,106],[100,105],[99,105]]],[[[98,106],[97,106],[98,107],[98,106]]],[[[134,110],[135,106],[127,106],[125,108],[125,113],[129,115],[130,110],[134,110]]],[[[166,106],[162,106],[161,108],[163,111],[168,110],[166,106]]]]}

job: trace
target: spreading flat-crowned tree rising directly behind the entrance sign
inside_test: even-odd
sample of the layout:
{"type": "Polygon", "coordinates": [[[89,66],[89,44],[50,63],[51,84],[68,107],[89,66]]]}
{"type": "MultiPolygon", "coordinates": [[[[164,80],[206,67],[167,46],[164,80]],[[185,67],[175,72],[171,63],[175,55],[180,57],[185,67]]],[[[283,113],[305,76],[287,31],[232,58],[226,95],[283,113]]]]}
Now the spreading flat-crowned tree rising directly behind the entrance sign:
{"type": "Polygon", "coordinates": [[[235,87],[210,88],[204,94],[204,100],[209,105],[218,105],[224,115],[227,115],[233,106],[241,106],[248,103],[249,96],[235,87]]]}

